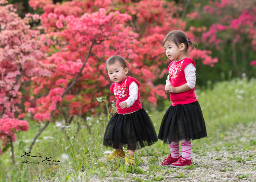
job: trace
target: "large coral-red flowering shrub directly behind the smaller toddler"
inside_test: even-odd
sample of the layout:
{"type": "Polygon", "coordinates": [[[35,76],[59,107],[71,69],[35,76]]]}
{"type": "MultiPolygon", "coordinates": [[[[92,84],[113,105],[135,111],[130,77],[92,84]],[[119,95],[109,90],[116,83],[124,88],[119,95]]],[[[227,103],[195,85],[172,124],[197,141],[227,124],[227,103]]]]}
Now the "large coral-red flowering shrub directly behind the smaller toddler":
{"type": "MultiPolygon", "coordinates": [[[[61,114],[68,122],[72,116],[86,118],[95,113],[96,97],[108,95],[114,101],[109,95],[105,61],[115,54],[127,60],[128,74],[140,80],[142,102],[147,100],[156,106],[157,97],[167,98],[163,84],[154,84],[167,74],[167,69],[163,69],[168,60],[162,40],[170,30],[186,27],[184,21],[175,17],[179,10],[173,2],[75,0],[54,5],[52,1],[30,0],[29,4],[34,10],[42,8],[45,33],[41,35],[41,50],[49,57],[41,62],[53,72],[50,77],[32,78],[36,107],[27,107],[27,111],[35,113],[36,120],[49,121],[56,102],[59,105],[54,116],[61,114]],[[90,57],[78,81],[65,92],[79,74],[91,44],[90,57]],[[55,90],[54,97],[50,96],[51,90],[55,90]]],[[[188,34],[193,38],[192,32],[188,34]]],[[[204,64],[213,65],[217,59],[210,54],[196,50],[194,55],[204,64]]]]}

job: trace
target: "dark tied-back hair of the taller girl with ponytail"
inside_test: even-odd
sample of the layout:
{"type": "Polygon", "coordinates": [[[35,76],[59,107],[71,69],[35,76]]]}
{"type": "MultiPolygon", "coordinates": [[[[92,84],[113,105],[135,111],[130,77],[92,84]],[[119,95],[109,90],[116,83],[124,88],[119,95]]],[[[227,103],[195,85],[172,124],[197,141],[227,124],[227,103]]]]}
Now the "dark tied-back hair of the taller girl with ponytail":
{"type": "Polygon", "coordinates": [[[194,51],[195,49],[195,44],[197,45],[196,42],[191,41],[188,39],[188,36],[180,31],[180,30],[172,30],[170,31],[165,37],[164,37],[164,41],[163,41],[163,46],[165,44],[166,41],[173,41],[177,47],[179,46],[179,44],[184,43],[185,44],[185,51],[187,52],[189,49],[189,45],[191,47],[191,50],[189,53],[191,53],[192,51],[194,51]]]}

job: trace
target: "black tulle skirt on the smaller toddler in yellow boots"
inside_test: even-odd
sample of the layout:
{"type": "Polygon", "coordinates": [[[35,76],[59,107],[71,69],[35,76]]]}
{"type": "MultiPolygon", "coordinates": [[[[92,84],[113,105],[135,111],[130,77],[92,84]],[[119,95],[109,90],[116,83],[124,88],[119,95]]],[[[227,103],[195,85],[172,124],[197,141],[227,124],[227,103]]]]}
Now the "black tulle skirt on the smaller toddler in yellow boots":
{"type": "Polygon", "coordinates": [[[143,109],[131,114],[114,114],[106,126],[103,145],[137,150],[157,142],[155,127],[143,109]]]}

